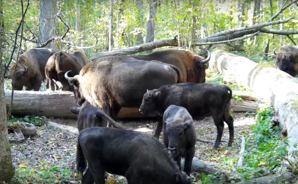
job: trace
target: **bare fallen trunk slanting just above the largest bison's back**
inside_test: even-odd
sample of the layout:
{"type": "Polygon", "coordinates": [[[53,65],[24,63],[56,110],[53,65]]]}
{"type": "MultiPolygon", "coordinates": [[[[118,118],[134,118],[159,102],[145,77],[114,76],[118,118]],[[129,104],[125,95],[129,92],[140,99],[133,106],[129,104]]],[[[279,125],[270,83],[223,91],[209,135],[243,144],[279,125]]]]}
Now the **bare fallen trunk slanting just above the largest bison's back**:
{"type": "Polygon", "coordinates": [[[95,55],[93,57],[91,57],[90,59],[93,61],[95,59],[98,59],[100,57],[103,56],[112,56],[112,55],[132,55],[135,53],[140,53],[143,51],[148,51],[148,50],[152,50],[152,49],[156,49],[159,47],[164,47],[164,46],[177,46],[178,45],[178,40],[176,39],[176,37],[171,38],[171,39],[162,39],[159,41],[152,41],[149,43],[144,43],[141,45],[136,45],[136,46],[132,46],[132,47],[128,47],[125,49],[116,49],[114,51],[111,52],[105,52],[105,53],[101,53],[98,55],[95,55]]]}

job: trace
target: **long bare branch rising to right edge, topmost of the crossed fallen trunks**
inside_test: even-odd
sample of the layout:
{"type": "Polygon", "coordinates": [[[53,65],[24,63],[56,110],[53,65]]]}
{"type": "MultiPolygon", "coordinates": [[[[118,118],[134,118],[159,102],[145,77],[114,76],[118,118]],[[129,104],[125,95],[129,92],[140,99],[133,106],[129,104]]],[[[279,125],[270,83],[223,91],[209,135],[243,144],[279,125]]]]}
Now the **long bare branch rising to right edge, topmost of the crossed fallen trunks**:
{"type": "Polygon", "coordinates": [[[260,24],[255,24],[255,25],[248,26],[248,27],[244,26],[244,27],[240,27],[240,28],[229,29],[229,30],[225,30],[225,31],[215,33],[215,34],[210,35],[206,38],[220,37],[220,36],[223,36],[223,35],[228,35],[228,34],[232,34],[232,33],[239,32],[239,31],[248,31],[248,30],[257,29],[257,28],[261,28],[261,27],[265,27],[265,26],[269,26],[269,25],[286,23],[286,22],[290,21],[293,18],[294,17],[290,17],[290,18],[286,18],[286,19],[283,19],[283,20],[277,20],[277,21],[271,21],[271,22],[262,22],[260,24]]]}

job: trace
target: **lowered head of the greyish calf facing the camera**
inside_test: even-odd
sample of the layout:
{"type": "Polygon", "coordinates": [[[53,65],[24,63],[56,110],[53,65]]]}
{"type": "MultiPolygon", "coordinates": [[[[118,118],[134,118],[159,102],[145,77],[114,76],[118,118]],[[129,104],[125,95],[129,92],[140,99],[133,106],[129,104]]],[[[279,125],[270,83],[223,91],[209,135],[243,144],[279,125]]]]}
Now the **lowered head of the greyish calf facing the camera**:
{"type": "Polygon", "coordinates": [[[186,131],[191,128],[193,121],[168,118],[164,123],[166,124],[164,131],[168,136],[168,149],[177,156],[180,154],[181,147],[185,145],[186,131]]]}

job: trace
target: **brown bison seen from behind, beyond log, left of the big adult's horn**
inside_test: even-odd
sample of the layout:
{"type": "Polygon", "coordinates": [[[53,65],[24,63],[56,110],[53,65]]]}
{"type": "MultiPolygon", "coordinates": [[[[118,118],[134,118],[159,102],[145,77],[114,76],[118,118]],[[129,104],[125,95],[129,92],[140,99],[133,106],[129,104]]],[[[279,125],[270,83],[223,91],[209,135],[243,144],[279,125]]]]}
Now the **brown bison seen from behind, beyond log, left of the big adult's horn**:
{"type": "Polygon", "coordinates": [[[57,52],[52,55],[46,66],[45,74],[47,77],[47,88],[51,88],[52,91],[65,90],[71,91],[71,86],[65,79],[64,74],[67,71],[72,71],[72,74],[79,74],[80,70],[89,62],[87,56],[80,52],[75,51],[73,53],[57,52]],[[61,83],[58,84],[58,82],[61,83]]]}

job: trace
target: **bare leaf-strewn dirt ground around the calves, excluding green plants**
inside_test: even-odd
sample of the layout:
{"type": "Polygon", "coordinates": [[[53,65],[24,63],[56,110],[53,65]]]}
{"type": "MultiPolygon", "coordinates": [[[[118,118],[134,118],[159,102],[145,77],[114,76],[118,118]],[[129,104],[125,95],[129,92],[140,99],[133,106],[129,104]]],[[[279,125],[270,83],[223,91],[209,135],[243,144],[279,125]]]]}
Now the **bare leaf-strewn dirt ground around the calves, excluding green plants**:
{"type": "MultiPolygon", "coordinates": [[[[211,161],[219,163],[219,158],[222,155],[226,157],[238,157],[240,150],[240,137],[237,133],[245,132],[251,133],[250,127],[255,124],[255,113],[239,113],[234,112],[234,129],[235,129],[235,141],[232,148],[227,150],[227,144],[222,142],[219,151],[212,151],[212,143],[204,143],[197,141],[195,156],[203,161],[211,161]]],[[[50,121],[58,124],[69,125],[76,127],[75,119],[49,119],[50,121]]],[[[156,129],[156,119],[120,119],[127,129],[141,129],[146,128],[153,134],[156,129]]],[[[203,120],[195,121],[195,128],[197,132],[197,138],[204,140],[216,139],[217,130],[213,123],[212,117],[206,117],[203,120]]],[[[13,162],[16,167],[21,164],[27,166],[40,165],[41,161],[46,161],[47,164],[56,165],[68,165],[72,171],[71,183],[79,183],[75,178],[75,151],[76,151],[76,136],[62,132],[58,129],[53,129],[48,126],[38,127],[38,135],[32,138],[28,138],[22,144],[16,144],[11,146],[11,152],[13,156],[13,162]]],[[[225,124],[223,130],[223,138],[228,140],[229,132],[227,125],[225,124]]],[[[160,139],[162,141],[162,139],[160,139]]],[[[192,174],[193,178],[196,173],[192,174]]],[[[200,179],[195,179],[196,181],[200,179]]],[[[126,184],[126,179],[121,176],[109,175],[109,181],[114,181],[118,184],[126,184]]],[[[112,182],[113,183],[113,182],[112,182]]]]}

